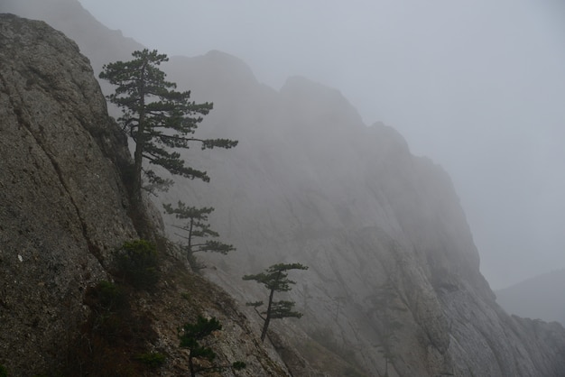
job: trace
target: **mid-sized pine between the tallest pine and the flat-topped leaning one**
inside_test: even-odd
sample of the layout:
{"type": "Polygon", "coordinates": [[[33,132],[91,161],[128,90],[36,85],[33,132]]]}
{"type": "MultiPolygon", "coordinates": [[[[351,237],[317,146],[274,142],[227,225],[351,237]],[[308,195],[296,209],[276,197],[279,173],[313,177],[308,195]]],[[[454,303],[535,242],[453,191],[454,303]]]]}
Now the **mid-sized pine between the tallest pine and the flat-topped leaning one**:
{"type": "Polygon", "coordinates": [[[182,244],[181,247],[186,252],[187,260],[193,268],[200,268],[195,260],[194,253],[227,254],[236,250],[231,244],[206,239],[219,236],[218,232],[213,231],[208,224],[208,215],[214,210],[213,207],[188,207],[181,201],[179,201],[177,207],[173,208],[171,204],[164,204],[163,207],[165,213],[174,215],[181,220],[188,220],[185,225],[177,227],[186,232],[186,235],[181,235],[181,238],[184,238],[187,242],[182,244]]]}

